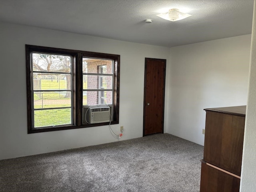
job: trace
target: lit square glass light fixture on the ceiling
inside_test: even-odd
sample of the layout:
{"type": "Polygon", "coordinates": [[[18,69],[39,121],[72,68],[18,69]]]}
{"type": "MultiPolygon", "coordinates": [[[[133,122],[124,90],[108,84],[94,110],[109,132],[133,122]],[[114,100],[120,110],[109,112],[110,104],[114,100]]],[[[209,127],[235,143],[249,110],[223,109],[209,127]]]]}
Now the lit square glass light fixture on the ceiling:
{"type": "Polygon", "coordinates": [[[178,20],[185,19],[192,15],[187,14],[187,13],[182,13],[178,9],[170,9],[168,12],[157,14],[156,16],[161,17],[166,20],[169,20],[169,21],[178,21],[178,20]]]}

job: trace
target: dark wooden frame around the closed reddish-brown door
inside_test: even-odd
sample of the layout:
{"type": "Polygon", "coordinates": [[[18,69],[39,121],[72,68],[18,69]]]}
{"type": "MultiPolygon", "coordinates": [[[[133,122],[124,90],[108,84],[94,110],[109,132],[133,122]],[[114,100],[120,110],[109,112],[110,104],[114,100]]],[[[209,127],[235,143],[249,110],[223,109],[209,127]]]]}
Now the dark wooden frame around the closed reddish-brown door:
{"type": "Polygon", "coordinates": [[[147,60],[157,60],[157,61],[163,61],[164,62],[164,93],[163,93],[163,125],[162,125],[162,133],[164,133],[164,105],[165,105],[165,80],[166,80],[166,59],[156,59],[156,58],[145,58],[145,71],[144,71],[144,106],[143,106],[143,137],[148,136],[145,135],[145,113],[146,113],[146,73],[147,73],[147,60]]]}

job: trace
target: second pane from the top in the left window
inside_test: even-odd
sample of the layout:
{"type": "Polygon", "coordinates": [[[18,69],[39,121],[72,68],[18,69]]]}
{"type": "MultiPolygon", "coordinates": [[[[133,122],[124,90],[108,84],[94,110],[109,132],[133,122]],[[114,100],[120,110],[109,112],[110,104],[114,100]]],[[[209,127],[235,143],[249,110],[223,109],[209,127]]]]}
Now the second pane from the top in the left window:
{"type": "Polygon", "coordinates": [[[33,74],[34,90],[70,90],[70,74],[33,74]]]}

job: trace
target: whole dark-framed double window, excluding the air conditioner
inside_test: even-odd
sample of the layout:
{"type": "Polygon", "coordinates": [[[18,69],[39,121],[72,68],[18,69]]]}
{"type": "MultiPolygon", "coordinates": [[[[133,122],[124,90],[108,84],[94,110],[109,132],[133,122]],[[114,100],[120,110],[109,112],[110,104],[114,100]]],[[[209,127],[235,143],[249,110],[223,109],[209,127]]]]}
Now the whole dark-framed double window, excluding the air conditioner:
{"type": "Polygon", "coordinates": [[[107,125],[85,120],[99,105],[118,124],[119,67],[120,55],[26,45],[28,133],[107,125]]]}

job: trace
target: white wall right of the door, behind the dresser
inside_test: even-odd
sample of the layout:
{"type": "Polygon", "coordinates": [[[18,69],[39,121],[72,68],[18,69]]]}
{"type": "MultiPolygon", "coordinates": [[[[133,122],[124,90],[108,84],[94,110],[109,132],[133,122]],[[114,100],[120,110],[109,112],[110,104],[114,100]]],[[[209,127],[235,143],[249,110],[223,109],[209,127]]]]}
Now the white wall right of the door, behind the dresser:
{"type": "Polygon", "coordinates": [[[167,132],[204,145],[204,108],[246,105],[251,35],[170,49],[167,132]]]}

